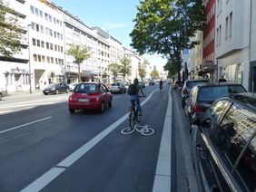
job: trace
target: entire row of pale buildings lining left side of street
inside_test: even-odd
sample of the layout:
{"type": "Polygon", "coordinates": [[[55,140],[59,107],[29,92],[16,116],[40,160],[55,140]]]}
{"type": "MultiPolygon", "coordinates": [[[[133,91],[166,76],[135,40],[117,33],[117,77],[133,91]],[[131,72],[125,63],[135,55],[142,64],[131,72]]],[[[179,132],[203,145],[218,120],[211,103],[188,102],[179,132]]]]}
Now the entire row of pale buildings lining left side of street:
{"type": "MultiPolygon", "coordinates": [[[[53,82],[113,82],[108,65],[121,64],[125,55],[132,59],[133,79],[143,57],[125,53],[126,48],[99,27],[88,27],[78,17],[47,0],[5,0],[15,10],[22,35],[23,50],[12,59],[1,59],[0,89],[12,91],[43,90],[53,82]],[[74,56],[67,55],[70,44],[85,46],[90,57],[78,67],[74,56]],[[79,72],[80,69],[80,72],[79,72]],[[2,89],[3,88],[3,89],[2,89]]],[[[123,80],[120,76],[120,80],[123,80]]]]}

